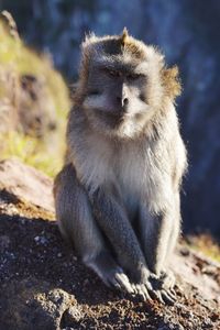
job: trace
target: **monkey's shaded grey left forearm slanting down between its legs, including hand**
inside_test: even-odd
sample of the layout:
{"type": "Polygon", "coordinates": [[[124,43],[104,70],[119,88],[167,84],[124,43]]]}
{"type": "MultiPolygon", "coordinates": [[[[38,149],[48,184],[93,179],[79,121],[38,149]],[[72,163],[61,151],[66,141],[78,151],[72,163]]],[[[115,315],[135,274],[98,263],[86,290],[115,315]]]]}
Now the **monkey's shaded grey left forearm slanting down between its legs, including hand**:
{"type": "Polygon", "coordinates": [[[144,299],[151,299],[148,290],[150,272],[140,248],[135,232],[128,219],[127,212],[119,198],[109,189],[99,188],[90,196],[97,221],[109,239],[117,258],[129,277],[136,285],[135,293],[144,299]]]}

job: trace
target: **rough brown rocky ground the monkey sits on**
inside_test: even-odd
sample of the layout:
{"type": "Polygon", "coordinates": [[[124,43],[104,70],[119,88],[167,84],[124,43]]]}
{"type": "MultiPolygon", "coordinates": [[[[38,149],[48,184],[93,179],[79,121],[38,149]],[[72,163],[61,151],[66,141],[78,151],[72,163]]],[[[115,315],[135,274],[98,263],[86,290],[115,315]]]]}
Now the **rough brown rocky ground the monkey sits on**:
{"type": "Polygon", "coordinates": [[[220,329],[219,264],[182,242],[174,306],[113,293],[63,241],[51,189],[35,169],[0,163],[0,329],[220,329]]]}

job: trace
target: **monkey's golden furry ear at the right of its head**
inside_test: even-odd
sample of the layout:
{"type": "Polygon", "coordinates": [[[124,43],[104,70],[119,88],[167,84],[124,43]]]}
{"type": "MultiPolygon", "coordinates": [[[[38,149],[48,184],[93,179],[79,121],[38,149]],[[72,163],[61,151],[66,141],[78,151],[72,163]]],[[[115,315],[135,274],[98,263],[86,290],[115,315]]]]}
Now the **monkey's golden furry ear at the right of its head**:
{"type": "Polygon", "coordinates": [[[168,96],[172,100],[182,94],[182,85],[178,74],[179,70],[176,65],[172,68],[162,69],[163,86],[165,87],[166,96],[168,96]]]}

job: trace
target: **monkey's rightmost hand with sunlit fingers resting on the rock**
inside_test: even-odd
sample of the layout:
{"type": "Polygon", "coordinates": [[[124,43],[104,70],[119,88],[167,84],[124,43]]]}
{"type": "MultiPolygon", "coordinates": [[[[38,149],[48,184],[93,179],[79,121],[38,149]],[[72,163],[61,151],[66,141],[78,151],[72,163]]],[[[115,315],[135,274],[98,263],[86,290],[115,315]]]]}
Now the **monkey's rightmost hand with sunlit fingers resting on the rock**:
{"type": "Polygon", "coordinates": [[[163,304],[174,305],[176,293],[174,290],[175,277],[172,272],[162,272],[160,276],[152,273],[150,283],[153,288],[152,296],[163,304]]]}

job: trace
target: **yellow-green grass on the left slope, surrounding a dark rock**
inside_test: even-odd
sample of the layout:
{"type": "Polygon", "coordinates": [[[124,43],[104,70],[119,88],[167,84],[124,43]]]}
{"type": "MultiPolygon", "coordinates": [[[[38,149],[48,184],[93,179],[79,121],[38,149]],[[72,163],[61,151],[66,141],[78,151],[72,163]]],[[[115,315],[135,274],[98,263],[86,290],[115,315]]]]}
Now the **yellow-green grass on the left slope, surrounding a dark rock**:
{"type": "Polygon", "coordinates": [[[68,88],[62,75],[54,69],[48,55],[40,55],[26,47],[21,38],[13,37],[6,23],[0,21],[0,111],[3,111],[1,105],[15,107],[13,100],[16,90],[7,84],[10,74],[15,77],[14,81],[22,75],[33,75],[45,81],[46,91],[55,106],[58,128],[42,141],[14,131],[0,133],[0,158],[19,157],[53,177],[63,164],[64,132],[70,107],[68,88]]]}

